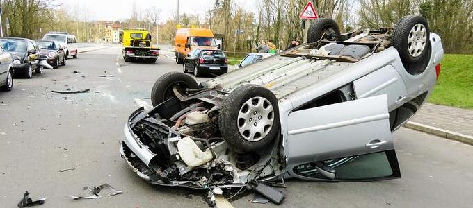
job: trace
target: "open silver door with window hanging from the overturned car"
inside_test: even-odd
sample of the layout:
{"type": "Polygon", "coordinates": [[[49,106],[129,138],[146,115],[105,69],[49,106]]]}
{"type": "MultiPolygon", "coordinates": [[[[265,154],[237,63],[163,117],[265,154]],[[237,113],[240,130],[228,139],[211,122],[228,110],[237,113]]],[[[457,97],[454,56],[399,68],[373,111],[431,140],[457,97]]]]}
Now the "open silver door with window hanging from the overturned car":
{"type": "Polygon", "coordinates": [[[289,175],[305,180],[400,177],[387,96],[304,108],[287,118],[289,175]]]}

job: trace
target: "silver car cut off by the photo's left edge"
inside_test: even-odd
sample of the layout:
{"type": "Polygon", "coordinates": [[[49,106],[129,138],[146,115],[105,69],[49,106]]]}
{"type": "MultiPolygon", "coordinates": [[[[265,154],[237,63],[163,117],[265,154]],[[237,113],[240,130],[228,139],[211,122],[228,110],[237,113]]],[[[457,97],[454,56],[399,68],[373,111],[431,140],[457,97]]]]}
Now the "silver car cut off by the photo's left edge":
{"type": "Polygon", "coordinates": [[[12,55],[0,46],[0,89],[10,91],[13,89],[12,55]]]}

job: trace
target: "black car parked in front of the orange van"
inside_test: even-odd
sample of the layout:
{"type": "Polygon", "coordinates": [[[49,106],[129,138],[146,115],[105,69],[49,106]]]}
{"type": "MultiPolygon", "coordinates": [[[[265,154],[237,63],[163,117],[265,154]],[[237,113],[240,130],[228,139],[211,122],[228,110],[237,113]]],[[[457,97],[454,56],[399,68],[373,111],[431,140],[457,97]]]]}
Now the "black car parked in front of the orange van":
{"type": "Polygon", "coordinates": [[[228,71],[228,59],[221,50],[193,49],[184,59],[184,73],[193,71],[196,77],[204,73],[221,75],[228,71]]]}

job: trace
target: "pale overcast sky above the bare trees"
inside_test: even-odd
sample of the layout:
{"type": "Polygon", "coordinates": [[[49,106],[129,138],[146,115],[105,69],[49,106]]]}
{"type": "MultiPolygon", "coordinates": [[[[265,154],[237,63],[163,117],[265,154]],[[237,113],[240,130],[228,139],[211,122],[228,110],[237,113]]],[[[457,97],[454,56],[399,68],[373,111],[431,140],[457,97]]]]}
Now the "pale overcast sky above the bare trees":
{"type": "MultiPolygon", "coordinates": [[[[136,3],[138,10],[157,6],[161,10],[161,21],[166,21],[177,12],[177,0],[57,0],[63,6],[75,8],[79,18],[88,20],[123,20],[131,17],[131,8],[136,3]]],[[[237,5],[256,11],[257,0],[233,0],[237,5]]],[[[215,0],[179,0],[179,13],[199,14],[204,17],[215,0]]],[[[143,14],[144,16],[144,14],[143,14]]]]}

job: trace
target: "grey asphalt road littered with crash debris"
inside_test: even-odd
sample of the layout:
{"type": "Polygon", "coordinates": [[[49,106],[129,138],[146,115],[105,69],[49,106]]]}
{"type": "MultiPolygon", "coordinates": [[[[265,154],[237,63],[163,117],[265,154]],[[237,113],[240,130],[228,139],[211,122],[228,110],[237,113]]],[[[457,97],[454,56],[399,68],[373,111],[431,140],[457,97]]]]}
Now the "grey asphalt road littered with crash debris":
{"type": "MultiPolygon", "coordinates": [[[[150,106],[154,80],[182,70],[166,47],[157,64],[125,63],[120,50],[115,46],[81,53],[67,60],[66,67],[31,80],[15,79],[12,92],[0,92],[0,207],[16,207],[26,190],[33,199],[47,197],[40,207],[207,207],[200,192],[147,184],[118,156],[123,125],[138,106],[150,106]],[[105,71],[114,77],[99,77],[105,71]],[[51,93],[68,88],[90,92],[51,93]],[[124,193],[95,200],[67,197],[105,182],[124,193]]],[[[404,128],[394,134],[394,142],[401,179],[289,180],[287,198],[279,207],[473,206],[472,146],[404,128]]],[[[250,199],[252,194],[232,204],[275,207],[250,199]]]]}

